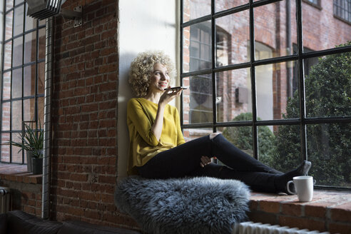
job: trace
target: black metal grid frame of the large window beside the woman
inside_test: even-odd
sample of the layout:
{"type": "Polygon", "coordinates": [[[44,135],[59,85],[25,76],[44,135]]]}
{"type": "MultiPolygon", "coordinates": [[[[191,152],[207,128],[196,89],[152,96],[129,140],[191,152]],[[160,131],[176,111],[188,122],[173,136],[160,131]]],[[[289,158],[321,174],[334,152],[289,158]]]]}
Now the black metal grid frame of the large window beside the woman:
{"type": "MultiPolygon", "coordinates": [[[[227,9],[224,11],[215,12],[215,0],[211,0],[211,14],[202,16],[198,19],[192,19],[190,21],[183,22],[183,0],[180,0],[180,61],[183,61],[183,29],[194,24],[201,23],[203,21],[211,21],[211,35],[212,35],[212,68],[203,69],[200,71],[190,71],[183,72],[183,62],[180,62],[180,85],[183,84],[183,78],[190,76],[198,76],[203,74],[210,73],[212,75],[212,98],[213,98],[213,122],[212,123],[183,123],[183,101],[180,101],[180,125],[182,129],[185,128],[212,128],[213,132],[217,131],[217,128],[221,127],[233,127],[233,126],[252,126],[253,128],[253,155],[256,159],[258,158],[258,126],[280,126],[280,125],[296,125],[300,126],[300,139],[301,139],[301,153],[303,160],[307,160],[307,125],[316,124],[316,123],[351,123],[351,116],[337,116],[337,117],[307,117],[306,116],[306,103],[305,103],[305,81],[304,81],[304,59],[310,59],[317,56],[327,56],[331,54],[340,54],[345,52],[351,52],[351,46],[337,47],[333,49],[324,49],[321,51],[303,51],[302,43],[302,1],[296,1],[296,20],[297,20],[297,54],[292,54],[288,56],[280,56],[271,59],[255,60],[255,37],[254,37],[254,18],[253,13],[254,9],[259,6],[264,6],[267,4],[273,4],[280,0],[261,0],[253,1],[249,0],[248,4],[241,6],[236,6],[232,9],[227,9]],[[218,19],[223,16],[228,16],[230,14],[235,14],[240,11],[249,10],[250,14],[250,61],[245,63],[230,64],[228,66],[216,67],[215,64],[215,19],[218,19]],[[298,89],[299,89],[299,106],[300,116],[299,118],[294,119],[279,119],[279,120],[258,120],[258,111],[256,104],[256,88],[255,88],[255,67],[281,63],[287,61],[297,62],[297,73],[298,73],[298,89]],[[252,121],[238,121],[238,122],[217,122],[217,110],[215,104],[216,97],[216,84],[215,84],[215,73],[220,71],[232,71],[240,68],[250,68],[250,80],[251,80],[251,98],[252,98],[252,121]]],[[[183,99],[182,99],[183,100],[183,99]]],[[[317,188],[325,189],[342,189],[342,190],[351,190],[351,188],[340,188],[337,186],[322,186],[318,185],[317,188]]]]}

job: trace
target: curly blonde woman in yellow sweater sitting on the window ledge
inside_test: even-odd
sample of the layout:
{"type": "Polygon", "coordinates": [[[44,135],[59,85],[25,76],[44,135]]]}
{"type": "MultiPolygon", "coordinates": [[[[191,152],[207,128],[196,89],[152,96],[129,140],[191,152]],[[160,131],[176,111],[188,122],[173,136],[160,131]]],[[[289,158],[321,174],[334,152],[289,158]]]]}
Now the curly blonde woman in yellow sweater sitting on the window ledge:
{"type": "Polygon", "coordinates": [[[177,109],[168,103],[182,88],[171,89],[171,59],[161,51],[138,54],[131,63],[129,83],[137,98],[128,101],[130,137],[128,174],[144,178],[211,176],[241,180],[251,189],[288,193],[292,177],[306,175],[311,163],[281,173],[240,151],[220,133],[184,141],[177,109]],[[225,166],[211,163],[217,157],[225,166]]]}

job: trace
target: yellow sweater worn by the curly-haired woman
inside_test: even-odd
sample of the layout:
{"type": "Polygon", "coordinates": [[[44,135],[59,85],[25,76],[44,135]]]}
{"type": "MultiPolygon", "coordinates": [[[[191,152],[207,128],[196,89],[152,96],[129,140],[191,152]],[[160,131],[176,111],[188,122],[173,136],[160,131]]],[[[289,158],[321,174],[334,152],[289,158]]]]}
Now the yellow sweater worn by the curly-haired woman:
{"type": "Polygon", "coordinates": [[[143,166],[156,154],[185,143],[180,129],[177,108],[166,105],[163,114],[161,138],[157,141],[151,132],[158,104],[145,98],[131,98],[127,107],[129,130],[128,175],[136,175],[136,166],[143,166]]]}

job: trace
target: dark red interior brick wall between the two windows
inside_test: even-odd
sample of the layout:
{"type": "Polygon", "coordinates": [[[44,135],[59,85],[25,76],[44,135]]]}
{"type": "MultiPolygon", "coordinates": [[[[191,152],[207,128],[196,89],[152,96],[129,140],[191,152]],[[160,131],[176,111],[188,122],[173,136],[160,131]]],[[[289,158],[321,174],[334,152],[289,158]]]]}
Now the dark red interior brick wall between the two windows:
{"type": "Polygon", "coordinates": [[[83,25],[56,17],[51,218],[135,226],[113,203],[117,163],[118,0],[83,6],[83,25]]]}

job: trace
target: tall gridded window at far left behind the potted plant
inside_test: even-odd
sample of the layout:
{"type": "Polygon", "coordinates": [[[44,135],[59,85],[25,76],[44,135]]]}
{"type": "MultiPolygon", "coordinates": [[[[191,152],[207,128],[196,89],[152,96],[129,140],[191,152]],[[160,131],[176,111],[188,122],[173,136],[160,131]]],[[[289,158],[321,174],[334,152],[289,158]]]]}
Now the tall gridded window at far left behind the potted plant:
{"type": "MultiPolygon", "coordinates": [[[[1,1],[1,143],[19,141],[24,122],[44,123],[45,21],[26,16],[23,0],[1,1]]],[[[34,126],[36,126],[34,123],[34,126]]],[[[26,163],[24,153],[1,145],[0,161],[26,163]]]]}

